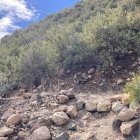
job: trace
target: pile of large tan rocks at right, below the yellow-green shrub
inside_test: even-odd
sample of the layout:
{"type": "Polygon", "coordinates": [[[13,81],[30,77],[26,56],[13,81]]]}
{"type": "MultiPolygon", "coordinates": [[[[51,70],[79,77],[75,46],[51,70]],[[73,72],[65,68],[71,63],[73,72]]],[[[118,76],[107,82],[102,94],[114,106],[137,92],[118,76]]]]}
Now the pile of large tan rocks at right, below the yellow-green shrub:
{"type": "Polygon", "coordinates": [[[139,114],[138,109],[136,107],[130,107],[129,96],[126,94],[115,96],[114,99],[119,101],[113,103],[112,111],[117,114],[117,121],[121,122],[116,127],[119,127],[118,129],[124,136],[132,135],[134,130],[138,130],[139,126],[139,120],[137,118],[139,114]]]}

